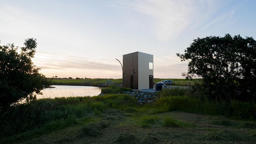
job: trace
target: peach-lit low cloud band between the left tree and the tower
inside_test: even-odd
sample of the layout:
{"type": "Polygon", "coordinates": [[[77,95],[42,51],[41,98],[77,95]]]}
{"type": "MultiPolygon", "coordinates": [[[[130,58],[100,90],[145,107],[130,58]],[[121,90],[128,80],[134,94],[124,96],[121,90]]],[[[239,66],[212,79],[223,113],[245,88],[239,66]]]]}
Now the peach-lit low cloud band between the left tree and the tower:
{"type": "Polygon", "coordinates": [[[35,55],[33,62],[46,77],[57,75],[73,78],[122,78],[122,69],[117,60],[103,56],[94,57],[40,53],[35,55]]]}

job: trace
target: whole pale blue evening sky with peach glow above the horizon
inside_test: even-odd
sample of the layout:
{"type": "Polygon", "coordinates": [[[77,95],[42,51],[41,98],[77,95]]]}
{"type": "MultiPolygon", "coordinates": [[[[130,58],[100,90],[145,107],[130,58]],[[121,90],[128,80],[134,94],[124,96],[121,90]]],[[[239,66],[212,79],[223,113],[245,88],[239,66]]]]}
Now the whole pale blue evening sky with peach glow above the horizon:
{"type": "Polygon", "coordinates": [[[122,56],[154,56],[154,78],[184,79],[193,39],[256,39],[256,0],[0,0],[0,45],[37,39],[46,77],[122,78],[122,56]]]}

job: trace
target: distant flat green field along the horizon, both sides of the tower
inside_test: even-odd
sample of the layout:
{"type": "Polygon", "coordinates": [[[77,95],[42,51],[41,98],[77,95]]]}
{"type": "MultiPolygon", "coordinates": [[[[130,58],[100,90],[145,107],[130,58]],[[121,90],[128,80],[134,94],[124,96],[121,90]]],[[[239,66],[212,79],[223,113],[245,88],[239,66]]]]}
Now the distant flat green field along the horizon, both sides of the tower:
{"type": "MultiPolygon", "coordinates": [[[[154,79],[154,83],[160,82],[161,80],[166,79],[154,79]]],[[[185,84],[187,82],[191,82],[186,79],[171,79],[175,84],[185,84]]],[[[53,82],[63,82],[63,83],[105,83],[105,82],[114,82],[114,83],[122,83],[122,79],[61,79],[61,78],[53,78],[53,82]]],[[[198,81],[198,80],[193,80],[198,81]]]]}

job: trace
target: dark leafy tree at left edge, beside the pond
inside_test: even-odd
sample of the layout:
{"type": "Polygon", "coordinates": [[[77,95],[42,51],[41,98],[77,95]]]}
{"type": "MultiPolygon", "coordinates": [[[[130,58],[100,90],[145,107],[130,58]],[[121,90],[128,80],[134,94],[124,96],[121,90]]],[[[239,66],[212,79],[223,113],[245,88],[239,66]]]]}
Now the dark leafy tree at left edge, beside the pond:
{"type": "Polygon", "coordinates": [[[40,90],[50,86],[31,60],[36,52],[36,39],[26,39],[24,45],[19,52],[13,44],[0,46],[0,108],[24,99],[33,101],[40,90]]]}

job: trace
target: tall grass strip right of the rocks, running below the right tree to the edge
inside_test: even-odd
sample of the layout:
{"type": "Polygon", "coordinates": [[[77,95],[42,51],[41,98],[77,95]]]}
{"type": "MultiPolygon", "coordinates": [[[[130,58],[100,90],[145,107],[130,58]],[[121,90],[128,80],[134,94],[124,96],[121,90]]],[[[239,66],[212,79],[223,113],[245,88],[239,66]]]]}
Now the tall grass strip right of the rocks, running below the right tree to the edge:
{"type": "Polygon", "coordinates": [[[234,119],[256,120],[256,103],[254,101],[211,101],[202,96],[187,96],[190,94],[189,91],[190,89],[164,89],[158,94],[160,97],[154,103],[154,106],[159,107],[164,112],[177,110],[197,114],[220,115],[234,119]]]}

